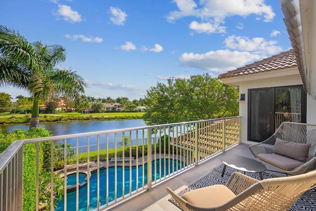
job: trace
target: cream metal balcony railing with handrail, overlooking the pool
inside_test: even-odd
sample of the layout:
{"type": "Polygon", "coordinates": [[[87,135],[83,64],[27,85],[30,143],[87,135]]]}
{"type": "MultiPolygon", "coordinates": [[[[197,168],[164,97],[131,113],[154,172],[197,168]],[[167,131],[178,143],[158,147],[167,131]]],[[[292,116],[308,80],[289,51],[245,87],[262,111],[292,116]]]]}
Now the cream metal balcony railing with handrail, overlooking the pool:
{"type": "MultiPolygon", "coordinates": [[[[39,153],[41,147],[40,143],[51,141],[50,151],[48,152],[50,154],[50,158],[47,161],[50,162],[51,172],[49,191],[53,193],[54,174],[58,173],[60,176],[65,177],[63,197],[64,202],[62,204],[64,205],[65,210],[67,209],[67,202],[76,204],[76,209],[78,209],[79,206],[82,206],[81,203],[79,204],[78,199],[79,187],[77,187],[75,190],[77,191],[77,198],[72,199],[67,194],[66,178],[68,177],[69,173],[76,173],[78,181],[79,171],[84,170],[87,172],[87,175],[93,175],[95,172],[97,175],[97,195],[91,196],[91,194],[93,194],[92,192],[90,194],[89,190],[95,187],[90,183],[92,178],[90,180],[90,177],[88,176],[85,186],[85,191],[87,191],[86,209],[99,209],[100,207],[105,208],[108,206],[113,206],[117,202],[140,191],[144,191],[146,189],[151,190],[153,184],[162,182],[165,180],[165,178],[174,176],[184,169],[197,166],[199,162],[205,161],[206,159],[211,158],[222,151],[225,151],[227,148],[234,146],[240,142],[240,127],[241,117],[238,116],[231,118],[85,132],[15,141],[2,154],[0,154],[0,185],[3,183],[9,184],[2,185],[2,189],[0,188],[0,191],[4,193],[4,195],[0,195],[0,202],[4,206],[2,208],[0,207],[0,211],[10,210],[12,208],[8,207],[11,203],[11,199],[8,197],[7,193],[9,192],[9,189],[7,188],[11,188],[11,184],[22,185],[21,181],[23,180],[23,165],[18,165],[19,162],[17,158],[19,157],[19,160],[22,162],[23,145],[36,143],[37,172],[34,175],[36,176],[37,181],[36,208],[39,208],[39,203],[41,205],[43,204],[43,202],[39,201],[38,193],[39,186],[41,184],[39,179],[41,167],[38,165],[43,159],[40,157],[41,155],[39,153]],[[112,143],[110,142],[111,140],[109,140],[110,135],[114,135],[113,151],[109,147],[109,143],[112,143]],[[119,142],[117,137],[119,137],[119,135],[121,135],[123,139],[121,148],[118,148],[117,145],[119,142]],[[124,137],[128,137],[128,140],[125,140],[124,137]],[[69,139],[73,140],[74,138],[76,139],[76,143],[72,149],[74,151],[76,149],[75,155],[68,157],[69,148],[67,147],[67,143],[70,142],[69,139]],[[85,160],[79,158],[79,148],[81,147],[79,146],[79,139],[81,141],[80,144],[86,145],[87,148],[86,152],[84,152],[86,156],[85,160]],[[94,151],[95,149],[90,148],[90,143],[93,143],[92,140],[94,139],[97,140],[97,144],[93,144],[95,145],[94,147],[96,147],[96,151],[94,151]],[[134,142],[134,139],[137,141],[134,142]],[[62,141],[62,143],[64,143],[64,148],[60,150],[58,155],[55,155],[54,153],[54,141],[62,141]],[[101,145],[102,149],[100,147],[101,145]],[[111,154],[111,157],[109,157],[109,154],[111,154]],[[54,162],[57,160],[54,159],[54,156],[59,156],[63,160],[63,166],[61,170],[54,169],[54,162]],[[118,162],[118,157],[122,157],[124,162],[118,162]],[[134,159],[132,159],[132,157],[134,157],[134,159]],[[115,158],[114,162],[109,162],[109,159],[111,158],[115,158]],[[79,163],[79,161],[86,162],[87,165],[85,165],[82,169],[83,166],[80,165],[81,163],[79,163]],[[67,165],[71,164],[75,164],[76,168],[68,169],[67,165]],[[16,168],[16,166],[18,167],[16,168]],[[112,166],[114,169],[111,169],[112,166]],[[135,166],[137,169],[139,169],[136,170],[136,175],[132,175],[132,166],[135,166]],[[11,167],[13,169],[12,173],[7,174],[11,167]],[[118,171],[119,169],[121,170],[118,171]],[[113,181],[109,180],[111,172],[115,172],[113,181]],[[105,185],[101,185],[100,183],[101,173],[102,175],[106,176],[105,185]],[[11,174],[17,175],[19,182],[16,180],[7,182],[7,175],[11,174]],[[121,176],[118,177],[119,175],[121,176]],[[136,181],[136,187],[134,184],[132,184],[132,180],[136,181]],[[115,185],[115,189],[110,191],[109,185],[111,185],[111,183],[114,181],[114,184],[127,184],[127,186],[123,185],[120,187],[115,185]],[[103,188],[102,191],[101,188],[103,188]],[[114,195],[111,195],[113,192],[114,195]],[[101,193],[106,194],[106,201],[100,202],[101,193]],[[93,201],[95,198],[97,198],[96,202],[93,201]],[[76,203],[72,200],[76,200],[76,203]]],[[[105,181],[105,179],[102,181],[105,181]]],[[[14,194],[12,194],[16,196],[13,200],[17,204],[14,204],[14,206],[16,208],[21,208],[18,210],[22,210],[22,189],[22,186],[13,188],[13,191],[18,190],[16,193],[14,192],[14,194]],[[20,198],[20,201],[18,197],[20,198]]],[[[82,190],[82,188],[80,190],[82,190]]],[[[52,203],[54,200],[54,194],[50,195],[50,202],[52,203]]]]}

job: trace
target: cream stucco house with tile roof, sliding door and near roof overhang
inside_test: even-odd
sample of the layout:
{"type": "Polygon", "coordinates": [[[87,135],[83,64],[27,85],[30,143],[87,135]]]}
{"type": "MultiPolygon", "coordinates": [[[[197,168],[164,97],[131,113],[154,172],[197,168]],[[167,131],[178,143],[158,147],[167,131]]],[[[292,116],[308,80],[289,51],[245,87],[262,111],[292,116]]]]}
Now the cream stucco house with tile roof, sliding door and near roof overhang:
{"type": "Polygon", "coordinates": [[[243,143],[265,140],[283,121],[316,124],[316,1],[281,8],[293,49],[218,77],[239,87],[243,143]]]}

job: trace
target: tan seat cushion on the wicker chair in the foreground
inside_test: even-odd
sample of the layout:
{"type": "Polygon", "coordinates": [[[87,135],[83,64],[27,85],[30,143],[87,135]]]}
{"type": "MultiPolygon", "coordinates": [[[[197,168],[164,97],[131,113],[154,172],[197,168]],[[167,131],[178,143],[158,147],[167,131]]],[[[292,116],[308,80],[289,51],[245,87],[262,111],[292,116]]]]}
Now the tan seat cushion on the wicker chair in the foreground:
{"type": "Polygon", "coordinates": [[[189,203],[202,208],[213,208],[224,205],[234,197],[236,195],[224,185],[211,185],[198,188],[186,192],[182,196],[189,203]]]}

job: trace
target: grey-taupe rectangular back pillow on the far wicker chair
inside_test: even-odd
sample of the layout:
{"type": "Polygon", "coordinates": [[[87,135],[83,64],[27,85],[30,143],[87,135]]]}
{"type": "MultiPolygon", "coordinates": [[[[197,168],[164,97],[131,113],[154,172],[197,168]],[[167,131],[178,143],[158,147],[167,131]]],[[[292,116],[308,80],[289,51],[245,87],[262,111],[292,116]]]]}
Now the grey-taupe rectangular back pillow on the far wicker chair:
{"type": "Polygon", "coordinates": [[[310,146],[311,144],[284,141],[280,138],[276,138],[273,153],[284,155],[297,161],[306,162],[310,146]]]}

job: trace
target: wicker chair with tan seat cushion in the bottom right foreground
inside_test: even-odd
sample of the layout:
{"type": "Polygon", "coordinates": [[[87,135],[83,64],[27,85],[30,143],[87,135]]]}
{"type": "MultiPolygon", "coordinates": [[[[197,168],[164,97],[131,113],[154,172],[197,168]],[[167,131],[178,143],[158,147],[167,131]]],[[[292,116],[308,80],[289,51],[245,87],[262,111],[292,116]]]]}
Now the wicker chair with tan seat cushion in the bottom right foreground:
{"type": "Polygon", "coordinates": [[[307,190],[316,187],[316,170],[256,180],[234,172],[227,184],[211,185],[183,194],[167,192],[183,211],[288,211],[307,190]]]}

